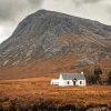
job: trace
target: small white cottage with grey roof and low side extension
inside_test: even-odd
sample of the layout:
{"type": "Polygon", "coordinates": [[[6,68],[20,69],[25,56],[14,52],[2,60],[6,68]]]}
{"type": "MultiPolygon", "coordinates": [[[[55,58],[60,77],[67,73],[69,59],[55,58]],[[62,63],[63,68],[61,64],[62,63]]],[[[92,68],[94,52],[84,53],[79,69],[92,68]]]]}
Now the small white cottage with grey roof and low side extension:
{"type": "Polygon", "coordinates": [[[52,79],[51,84],[61,87],[65,85],[87,85],[85,77],[83,73],[60,73],[59,79],[52,79]]]}

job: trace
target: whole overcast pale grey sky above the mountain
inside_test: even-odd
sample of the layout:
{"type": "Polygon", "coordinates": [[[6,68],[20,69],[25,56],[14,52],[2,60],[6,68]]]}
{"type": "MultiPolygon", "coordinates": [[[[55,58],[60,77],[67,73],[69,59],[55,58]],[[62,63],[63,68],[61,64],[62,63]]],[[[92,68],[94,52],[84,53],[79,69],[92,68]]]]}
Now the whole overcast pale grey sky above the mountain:
{"type": "Polygon", "coordinates": [[[64,12],[111,26],[111,0],[0,0],[0,42],[12,34],[23,18],[39,9],[64,12]]]}

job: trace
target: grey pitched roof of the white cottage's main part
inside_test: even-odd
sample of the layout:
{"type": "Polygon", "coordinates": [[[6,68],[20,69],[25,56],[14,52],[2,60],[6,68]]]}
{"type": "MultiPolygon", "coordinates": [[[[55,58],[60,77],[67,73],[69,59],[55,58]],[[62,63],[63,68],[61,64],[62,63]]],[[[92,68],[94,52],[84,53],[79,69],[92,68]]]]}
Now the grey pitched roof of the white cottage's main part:
{"type": "Polygon", "coordinates": [[[82,73],[61,73],[64,80],[85,80],[82,73]]]}

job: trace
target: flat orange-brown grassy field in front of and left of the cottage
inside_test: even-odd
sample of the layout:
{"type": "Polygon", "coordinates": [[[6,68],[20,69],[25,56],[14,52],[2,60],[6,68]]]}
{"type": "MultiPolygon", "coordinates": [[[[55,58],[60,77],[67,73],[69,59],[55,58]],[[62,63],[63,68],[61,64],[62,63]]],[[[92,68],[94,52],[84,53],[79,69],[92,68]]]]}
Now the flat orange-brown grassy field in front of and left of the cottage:
{"type": "Polygon", "coordinates": [[[51,101],[56,105],[107,104],[111,107],[110,85],[58,87],[50,85],[51,78],[32,78],[0,81],[0,104],[3,99],[18,100],[21,104],[32,101],[51,101]]]}

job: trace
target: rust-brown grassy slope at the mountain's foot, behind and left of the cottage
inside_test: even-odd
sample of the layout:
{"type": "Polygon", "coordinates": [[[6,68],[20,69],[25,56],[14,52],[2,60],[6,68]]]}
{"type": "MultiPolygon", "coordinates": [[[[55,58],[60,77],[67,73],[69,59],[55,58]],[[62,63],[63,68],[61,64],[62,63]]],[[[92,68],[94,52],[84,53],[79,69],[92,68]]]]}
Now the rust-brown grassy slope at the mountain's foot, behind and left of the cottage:
{"type": "Polygon", "coordinates": [[[61,58],[51,58],[48,60],[32,60],[18,65],[6,65],[3,69],[0,69],[0,80],[37,78],[47,73],[72,72],[75,70],[73,65],[77,58],[79,58],[79,56],[73,57],[70,54],[70,59],[69,56],[63,56],[61,58]]]}

